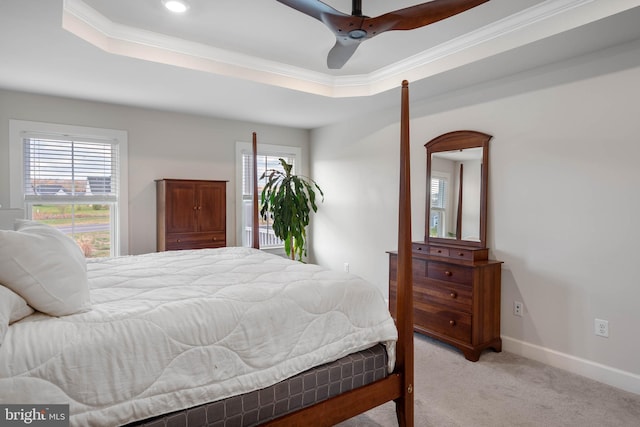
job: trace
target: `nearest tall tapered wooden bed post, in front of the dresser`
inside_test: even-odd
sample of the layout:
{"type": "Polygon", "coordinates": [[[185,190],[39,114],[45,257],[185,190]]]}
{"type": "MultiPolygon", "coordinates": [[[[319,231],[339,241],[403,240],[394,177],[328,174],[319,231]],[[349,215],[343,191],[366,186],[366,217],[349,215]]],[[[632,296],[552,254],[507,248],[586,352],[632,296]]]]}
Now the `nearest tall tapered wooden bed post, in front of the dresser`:
{"type": "Polygon", "coordinates": [[[411,173],[409,144],[409,82],[402,82],[400,113],[400,199],[398,204],[398,345],[396,369],[403,373],[402,393],[396,399],[401,427],[413,426],[413,278],[411,248],[411,173]]]}

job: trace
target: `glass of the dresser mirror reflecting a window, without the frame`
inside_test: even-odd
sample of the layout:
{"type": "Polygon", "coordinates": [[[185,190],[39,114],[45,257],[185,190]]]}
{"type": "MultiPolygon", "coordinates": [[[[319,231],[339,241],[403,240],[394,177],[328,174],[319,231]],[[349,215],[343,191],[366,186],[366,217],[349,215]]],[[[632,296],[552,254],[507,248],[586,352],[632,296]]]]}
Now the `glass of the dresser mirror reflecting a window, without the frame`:
{"type": "Polygon", "coordinates": [[[479,242],[482,147],[431,156],[429,237],[479,242]]]}

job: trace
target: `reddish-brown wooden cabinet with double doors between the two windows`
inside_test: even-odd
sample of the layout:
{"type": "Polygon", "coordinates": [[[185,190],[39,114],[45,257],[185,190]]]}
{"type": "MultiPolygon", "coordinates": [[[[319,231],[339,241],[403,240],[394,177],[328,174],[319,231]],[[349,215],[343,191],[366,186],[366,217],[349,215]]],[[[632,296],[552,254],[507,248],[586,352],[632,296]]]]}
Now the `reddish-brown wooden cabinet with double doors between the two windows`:
{"type": "Polygon", "coordinates": [[[157,250],[227,245],[226,181],[156,180],[157,250]]]}

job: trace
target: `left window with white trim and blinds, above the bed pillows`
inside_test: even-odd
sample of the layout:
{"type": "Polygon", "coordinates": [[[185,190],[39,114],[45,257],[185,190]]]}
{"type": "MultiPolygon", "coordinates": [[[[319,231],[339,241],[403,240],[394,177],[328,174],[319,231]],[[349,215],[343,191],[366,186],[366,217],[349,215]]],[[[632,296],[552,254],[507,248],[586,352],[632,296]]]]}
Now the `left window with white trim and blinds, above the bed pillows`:
{"type": "Polygon", "coordinates": [[[11,120],[10,134],[12,206],[86,257],[126,254],[126,132],[11,120]]]}

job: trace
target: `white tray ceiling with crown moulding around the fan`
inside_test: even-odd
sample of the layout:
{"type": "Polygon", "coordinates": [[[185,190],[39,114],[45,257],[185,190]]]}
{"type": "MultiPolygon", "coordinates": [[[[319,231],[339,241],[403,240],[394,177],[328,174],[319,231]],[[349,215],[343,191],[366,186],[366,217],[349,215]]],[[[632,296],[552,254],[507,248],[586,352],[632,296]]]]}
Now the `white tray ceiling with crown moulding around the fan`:
{"type": "MultiPolygon", "coordinates": [[[[640,0],[491,0],[364,42],[275,0],[0,0],[0,88],[316,128],[640,39],[640,0]]],[[[351,12],[350,0],[325,0],[351,12]]],[[[420,3],[363,0],[368,16],[420,3]]]]}

